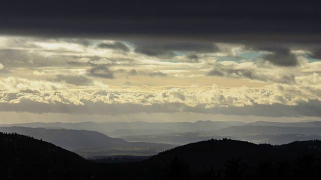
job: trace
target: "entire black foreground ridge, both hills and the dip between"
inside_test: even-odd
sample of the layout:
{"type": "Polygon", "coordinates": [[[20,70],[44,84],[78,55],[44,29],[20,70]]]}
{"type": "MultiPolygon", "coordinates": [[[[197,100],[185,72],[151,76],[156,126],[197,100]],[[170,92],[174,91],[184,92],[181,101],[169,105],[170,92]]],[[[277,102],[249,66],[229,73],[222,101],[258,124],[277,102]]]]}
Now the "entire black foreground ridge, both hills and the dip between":
{"type": "Polygon", "coordinates": [[[210,139],[141,162],[95,163],[52,143],[0,132],[0,179],[319,179],[321,141],[210,139]]]}

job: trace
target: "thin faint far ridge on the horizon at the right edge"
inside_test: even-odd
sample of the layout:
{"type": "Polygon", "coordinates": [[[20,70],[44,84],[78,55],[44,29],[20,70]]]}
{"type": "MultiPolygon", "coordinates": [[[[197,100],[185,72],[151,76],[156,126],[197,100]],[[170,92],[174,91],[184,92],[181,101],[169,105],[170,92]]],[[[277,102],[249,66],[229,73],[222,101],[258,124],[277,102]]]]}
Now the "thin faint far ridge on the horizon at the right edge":
{"type": "Polygon", "coordinates": [[[265,126],[279,126],[279,127],[321,127],[321,121],[307,121],[307,122],[268,122],[259,120],[243,125],[265,125],[265,126]]]}

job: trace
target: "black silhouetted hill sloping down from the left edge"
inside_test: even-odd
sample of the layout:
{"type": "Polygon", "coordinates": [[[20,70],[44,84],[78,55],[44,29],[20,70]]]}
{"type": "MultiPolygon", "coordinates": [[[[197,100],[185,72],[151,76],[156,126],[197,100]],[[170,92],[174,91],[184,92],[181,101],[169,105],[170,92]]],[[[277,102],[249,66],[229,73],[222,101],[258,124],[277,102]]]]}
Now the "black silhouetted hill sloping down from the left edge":
{"type": "Polygon", "coordinates": [[[0,132],[0,179],[89,179],[94,164],[52,143],[0,132]]]}

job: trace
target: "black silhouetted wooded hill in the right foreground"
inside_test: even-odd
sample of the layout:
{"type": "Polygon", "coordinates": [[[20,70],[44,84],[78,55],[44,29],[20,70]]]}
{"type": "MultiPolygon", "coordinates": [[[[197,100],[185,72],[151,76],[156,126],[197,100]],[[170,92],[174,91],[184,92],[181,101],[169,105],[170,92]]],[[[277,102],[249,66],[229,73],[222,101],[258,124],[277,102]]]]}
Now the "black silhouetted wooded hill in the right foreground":
{"type": "Polygon", "coordinates": [[[146,173],[137,174],[137,179],[162,179],[175,174],[188,174],[186,179],[211,179],[216,175],[214,179],[316,179],[320,157],[320,140],[274,146],[211,139],[179,146],[140,162],[139,168],[146,173]]]}

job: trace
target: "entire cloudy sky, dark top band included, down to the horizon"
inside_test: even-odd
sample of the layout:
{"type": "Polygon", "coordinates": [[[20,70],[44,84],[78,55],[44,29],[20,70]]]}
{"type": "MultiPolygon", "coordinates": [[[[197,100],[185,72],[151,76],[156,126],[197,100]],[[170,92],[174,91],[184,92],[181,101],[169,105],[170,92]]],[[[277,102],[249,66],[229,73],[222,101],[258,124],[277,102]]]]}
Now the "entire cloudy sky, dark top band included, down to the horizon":
{"type": "Polygon", "coordinates": [[[0,123],[321,120],[318,1],[9,1],[0,123]]]}

